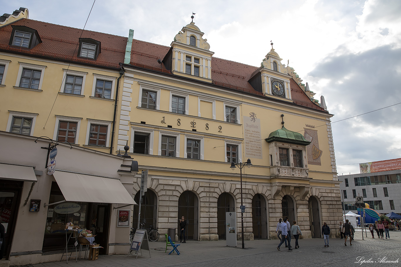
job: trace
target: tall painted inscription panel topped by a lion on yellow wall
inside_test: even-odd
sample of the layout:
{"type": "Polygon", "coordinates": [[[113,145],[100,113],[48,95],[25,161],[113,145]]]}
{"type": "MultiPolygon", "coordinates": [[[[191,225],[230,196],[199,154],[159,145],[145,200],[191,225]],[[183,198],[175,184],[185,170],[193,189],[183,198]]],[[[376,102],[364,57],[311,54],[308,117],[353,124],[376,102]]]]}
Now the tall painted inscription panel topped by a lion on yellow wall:
{"type": "Polygon", "coordinates": [[[251,112],[249,116],[243,116],[245,159],[262,159],[260,119],[251,112]]]}

